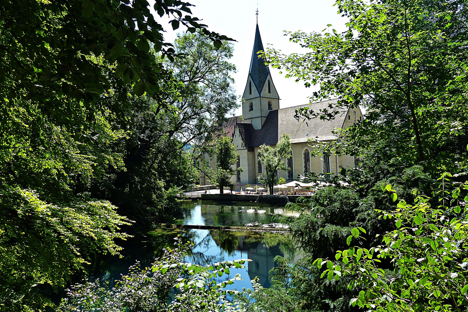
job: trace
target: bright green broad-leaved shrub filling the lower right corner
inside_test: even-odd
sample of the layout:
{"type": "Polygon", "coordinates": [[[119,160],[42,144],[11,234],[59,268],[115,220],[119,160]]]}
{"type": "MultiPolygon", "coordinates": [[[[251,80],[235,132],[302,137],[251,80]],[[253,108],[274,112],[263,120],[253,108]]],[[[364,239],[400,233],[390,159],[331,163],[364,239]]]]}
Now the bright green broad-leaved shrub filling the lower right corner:
{"type": "MultiPolygon", "coordinates": [[[[351,242],[366,233],[353,228],[347,239],[350,247],[336,252],[337,262],[314,262],[319,268],[326,263],[322,277],[352,276],[348,288],[360,290],[351,299],[352,306],[374,311],[466,311],[468,181],[452,183],[451,178],[447,173],[439,178],[437,208],[431,207],[428,196],[416,194],[414,204],[401,200],[396,210],[379,210],[380,217],[395,222],[395,230],[383,235],[382,245],[352,247],[351,242]],[[386,269],[389,262],[393,270],[386,269]]],[[[390,184],[382,184],[382,190],[396,201],[390,184]]]]}

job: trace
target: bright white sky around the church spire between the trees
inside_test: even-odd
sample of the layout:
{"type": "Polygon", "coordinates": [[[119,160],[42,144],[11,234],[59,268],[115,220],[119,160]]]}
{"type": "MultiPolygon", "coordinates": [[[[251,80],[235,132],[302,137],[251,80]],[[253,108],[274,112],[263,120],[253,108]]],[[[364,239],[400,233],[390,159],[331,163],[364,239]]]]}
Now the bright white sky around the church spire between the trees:
{"type": "MultiPolygon", "coordinates": [[[[237,40],[234,42],[234,56],[231,62],[237,67],[233,74],[236,94],[244,91],[249,74],[250,58],[255,37],[256,6],[252,0],[188,0],[196,7],[191,7],[193,16],[203,19],[208,29],[237,40]]],[[[306,32],[321,32],[332,24],[334,29],[341,32],[345,30],[347,20],[338,15],[337,8],[333,7],[332,0],[259,0],[258,1],[258,27],[262,36],[263,47],[272,44],[274,48],[285,53],[301,52],[298,44],[289,42],[283,30],[306,32]]],[[[159,17],[159,16],[158,16],[159,17]]],[[[166,30],[171,29],[169,24],[163,25],[166,30]]],[[[180,30],[179,30],[180,31],[180,30]]],[[[175,33],[168,31],[165,40],[174,41],[175,33]]],[[[307,50],[302,50],[307,51],[307,50]]],[[[307,97],[316,89],[306,88],[303,82],[294,82],[286,79],[285,73],[270,68],[271,76],[280,97],[280,108],[307,104],[307,97]]],[[[237,109],[235,115],[242,115],[237,109]]]]}

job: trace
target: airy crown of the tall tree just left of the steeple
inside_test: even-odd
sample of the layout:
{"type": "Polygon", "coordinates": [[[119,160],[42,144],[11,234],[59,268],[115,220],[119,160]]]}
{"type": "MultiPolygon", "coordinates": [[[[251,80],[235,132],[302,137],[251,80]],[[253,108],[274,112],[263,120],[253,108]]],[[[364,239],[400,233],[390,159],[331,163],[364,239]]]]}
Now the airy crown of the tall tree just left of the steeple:
{"type": "Polygon", "coordinates": [[[179,81],[179,94],[166,99],[176,115],[168,134],[201,151],[213,134],[222,130],[226,116],[238,107],[231,76],[236,68],[229,62],[234,48],[228,42],[217,48],[208,36],[179,34],[174,49],[183,58],[164,61],[179,81]]]}

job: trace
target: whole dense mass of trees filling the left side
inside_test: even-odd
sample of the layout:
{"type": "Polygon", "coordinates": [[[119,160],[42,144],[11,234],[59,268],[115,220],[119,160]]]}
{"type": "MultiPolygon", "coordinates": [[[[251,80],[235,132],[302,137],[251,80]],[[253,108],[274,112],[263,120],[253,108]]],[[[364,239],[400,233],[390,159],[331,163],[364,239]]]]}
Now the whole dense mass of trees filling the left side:
{"type": "Polygon", "coordinates": [[[184,147],[208,140],[236,105],[232,46],[190,6],[154,3],[190,33],[170,44],[147,1],[0,4],[2,311],[53,308],[97,254],[119,254],[130,219],[136,233],[175,217],[196,174],[184,147]],[[181,61],[191,49],[203,62],[181,61]],[[208,68],[197,82],[181,78],[190,62],[208,68]]]}

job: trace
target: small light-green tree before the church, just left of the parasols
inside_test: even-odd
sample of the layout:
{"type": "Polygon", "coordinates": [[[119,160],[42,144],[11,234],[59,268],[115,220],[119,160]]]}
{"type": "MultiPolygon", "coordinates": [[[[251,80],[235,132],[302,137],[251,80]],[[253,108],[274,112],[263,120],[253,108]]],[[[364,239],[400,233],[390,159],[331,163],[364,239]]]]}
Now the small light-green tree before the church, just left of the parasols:
{"type": "Polygon", "coordinates": [[[289,134],[283,133],[275,147],[261,145],[258,151],[258,160],[265,165],[265,173],[258,177],[260,183],[268,185],[270,194],[273,195],[273,186],[278,183],[278,170],[287,170],[285,158],[291,152],[291,140],[289,134]]]}

